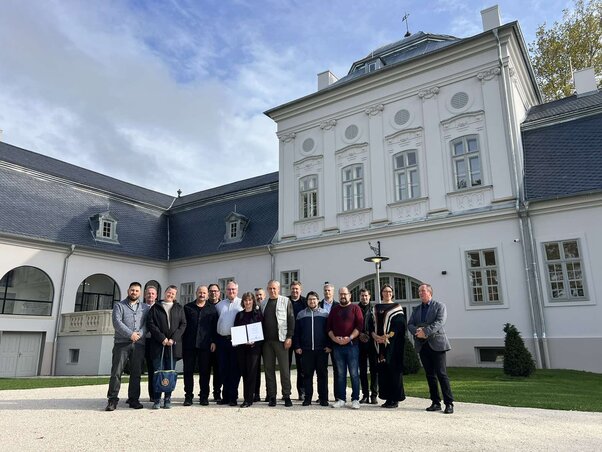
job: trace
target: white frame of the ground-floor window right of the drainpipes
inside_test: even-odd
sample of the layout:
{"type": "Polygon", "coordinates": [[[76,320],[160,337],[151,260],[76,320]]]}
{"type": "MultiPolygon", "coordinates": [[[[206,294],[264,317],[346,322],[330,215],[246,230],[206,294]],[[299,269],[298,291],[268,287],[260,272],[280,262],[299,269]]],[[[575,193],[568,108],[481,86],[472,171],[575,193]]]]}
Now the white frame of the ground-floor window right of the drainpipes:
{"type": "Polygon", "coordinates": [[[587,281],[585,277],[585,261],[583,256],[583,246],[581,245],[581,241],[578,238],[570,238],[563,240],[548,240],[541,243],[542,247],[542,257],[543,257],[543,270],[546,275],[546,291],[548,294],[548,300],[552,304],[556,303],[580,303],[589,301],[589,294],[587,290],[587,281]],[[575,242],[577,244],[577,252],[578,257],[567,257],[565,251],[565,244],[575,242]],[[555,244],[558,246],[559,258],[558,259],[549,259],[547,253],[547,246],[555,244]],[[574,266],[580,266],[581,278],[575,279],[571,278],[573,275],[574,266]],[[551,276],[551,266],[556,267],[556,278],[560,277],[561,279],[552,279],[551,276]],[[572,283],[575,281],[581,282],[581,290],[583,291],[583,295],[573,295],[571,292],[572,283]],[[556,285],[556,288],[554,285],[556,285]],[[562,287],[562,288],[560,288],[562,287]],[[564,295],[555,296],[555,291],[564,291],[564,295]]]}

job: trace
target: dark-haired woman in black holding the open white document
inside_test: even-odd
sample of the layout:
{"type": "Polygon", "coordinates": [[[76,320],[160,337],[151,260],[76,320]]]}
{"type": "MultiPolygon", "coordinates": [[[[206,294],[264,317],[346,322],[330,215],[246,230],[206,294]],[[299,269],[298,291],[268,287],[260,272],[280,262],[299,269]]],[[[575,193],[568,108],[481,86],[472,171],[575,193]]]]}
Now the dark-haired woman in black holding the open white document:
{"type": "MultiPolygon", "coordinates": [[[[234,328],[239,328],[238,331],[247,334],[247,342],[240,343],[236,346],[236,356],[238,366],[242,375],[244,402],[240,405],[241,408],[247,408],[253,405],[253,396],[255,393],[255,380],[257,379],[257,368],[261,357],[261,340],[254,340],[255,337],[263,338],[261,332],[261,311],[257,309],[255,295],[252,292],[245,292],[242,296],[240,311],[234,320],[234,328]],[[259,328],[259,331],[257,331],[259,328]],[[244,331],[243,331],[244,330],[244,331]]],[[[232,328],[234,330],[234,328],[232,328]]],[[[234,334],[232,339],[234,341],[234,334]]],[[[238,336],[238,335],[237,335],[238,336]]],[[[236,345],[236,344],[233,344],[236,345]]]]}

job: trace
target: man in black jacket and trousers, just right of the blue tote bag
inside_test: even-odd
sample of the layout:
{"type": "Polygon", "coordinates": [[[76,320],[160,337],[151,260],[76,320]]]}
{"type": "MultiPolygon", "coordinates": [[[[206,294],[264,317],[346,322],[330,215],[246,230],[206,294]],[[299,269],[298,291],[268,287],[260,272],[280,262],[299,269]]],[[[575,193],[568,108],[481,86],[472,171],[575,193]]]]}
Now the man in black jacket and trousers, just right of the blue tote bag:
{"type": "Polygon", "coordinates": [[[199,403],[209,405],[209,365],[215,351],[217,334],[217,310],[208,301],[209,290],[199,286],[197,299],[184,306],[186,330],[183,339],[184,357],[184,406],[192,405],[194,371],[199,369],[199,403]]]}

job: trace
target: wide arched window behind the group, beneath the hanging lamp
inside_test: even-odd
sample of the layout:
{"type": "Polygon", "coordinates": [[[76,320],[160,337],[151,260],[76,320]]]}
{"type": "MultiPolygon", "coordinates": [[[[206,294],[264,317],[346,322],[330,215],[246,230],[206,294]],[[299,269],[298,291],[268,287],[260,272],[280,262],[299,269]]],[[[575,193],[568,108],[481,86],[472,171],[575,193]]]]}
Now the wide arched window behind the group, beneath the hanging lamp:
{"type": "MultiPolygon", "coordinates": [[[[401,275],[399,273],[381,273],[380,287],[384,284],[389,284],[393,287],[394,301],[399,302],[406,307],[406,312],[410,312],[407,307],[420,303],[418,287],[420,287],[420,284],[422,283],[416,278],[401,275]]],[[[380,301],[380,294],[375,293],[376,274],[374,273],[352,282],[348,287],[351,292],[351,301],[359,301],[360,289],[363,288],[370,291],[370,299],[373,302],[378,303],[380,301]]]]}

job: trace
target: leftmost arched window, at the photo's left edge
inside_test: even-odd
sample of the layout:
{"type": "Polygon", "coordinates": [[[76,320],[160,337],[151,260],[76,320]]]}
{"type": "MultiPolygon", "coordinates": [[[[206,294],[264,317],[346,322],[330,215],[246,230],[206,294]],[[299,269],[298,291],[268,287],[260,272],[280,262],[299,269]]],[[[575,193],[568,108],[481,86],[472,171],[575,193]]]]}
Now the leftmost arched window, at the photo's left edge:
{"type": "Polygon", "coordinates": [[[0,314],[52,315],[54,287],[36,267],[17,267],[0,280],[0,314]]]}

